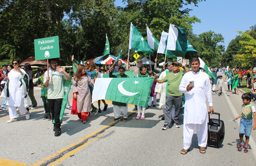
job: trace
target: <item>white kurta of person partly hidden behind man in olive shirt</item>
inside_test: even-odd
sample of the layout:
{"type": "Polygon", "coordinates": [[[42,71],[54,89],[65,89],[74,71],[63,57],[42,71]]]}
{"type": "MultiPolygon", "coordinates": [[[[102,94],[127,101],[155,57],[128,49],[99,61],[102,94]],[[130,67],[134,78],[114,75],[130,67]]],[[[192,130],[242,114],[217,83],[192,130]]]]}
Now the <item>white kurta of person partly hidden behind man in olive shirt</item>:
{"type": "MultiPolygon", "coordinates": [[[[163,71],[158,79],[163,79],[166,76],[166,71],[163,71]]],[[[163,84],[156,84],[155,92],[161,94],[160,100],[159,100],[159,106],[160,108],[165,108],[165,100],[166,100],[166,82],[163,82],[163,84]]]]}

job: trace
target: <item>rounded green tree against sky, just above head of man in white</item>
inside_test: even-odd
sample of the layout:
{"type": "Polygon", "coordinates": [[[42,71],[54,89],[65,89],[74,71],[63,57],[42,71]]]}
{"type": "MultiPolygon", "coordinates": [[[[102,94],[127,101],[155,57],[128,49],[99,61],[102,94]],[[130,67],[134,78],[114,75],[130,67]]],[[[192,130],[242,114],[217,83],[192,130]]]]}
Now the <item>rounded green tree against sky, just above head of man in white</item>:
{"type": "Polygon", "coordinates": [[[198,35],[198,37],[199,42],[197,51],[200,58],[202,58],[205,63],[208,63],[207,65],[216,67],[219,63],[211,64],[211,62],[215,58],[218,59],[224,52],[224,45],[219,44],[224,43],[224,38],[221,34],[216,34],[213,31],[204,32],[198,35]]]}

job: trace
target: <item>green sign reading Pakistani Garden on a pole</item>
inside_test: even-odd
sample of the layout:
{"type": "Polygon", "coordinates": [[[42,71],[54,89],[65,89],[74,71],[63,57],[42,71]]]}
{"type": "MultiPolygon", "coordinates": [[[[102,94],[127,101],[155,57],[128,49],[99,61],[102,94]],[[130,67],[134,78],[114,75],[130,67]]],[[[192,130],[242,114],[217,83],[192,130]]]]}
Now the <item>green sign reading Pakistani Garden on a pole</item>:
{"type": "Polygon", "coordinates": [[[59,58],[59,37],[35,39],[35,60],[59,58]]]}

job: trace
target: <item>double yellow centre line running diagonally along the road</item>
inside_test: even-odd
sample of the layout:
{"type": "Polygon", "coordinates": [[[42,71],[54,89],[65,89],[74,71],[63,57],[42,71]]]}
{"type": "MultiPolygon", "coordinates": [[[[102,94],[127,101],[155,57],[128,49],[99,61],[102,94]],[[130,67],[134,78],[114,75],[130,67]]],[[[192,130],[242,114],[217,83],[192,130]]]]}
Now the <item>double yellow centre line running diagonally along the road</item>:
{"type": "MultiPolygon", "coordinates": [[[[132,114],[132,113],[134,113],[134,112],[130,112],[130,113],[128,113],[127,115],[130,115],[130,114],[132,114]]],[[[122,119],[122,118],[123,118],[123,117],[121,117],[121,119],[122,119]]],[[[80,143],[80,142],[82,142],[82,141],[88,139],[90,136],[92,136],[92,135],[94,135],[94,134],[96,134],[96,133],[98,133],[98,132],[104,130],[105,128],[111,126],[112,124],[114,124],[114,123],[116,123],[116,122],[117,122],[117,121],[113,121],[113,122],[107,124],[106,126],[101,127],[101,128],[98,129],[97,131],[94,131],[94,132],[92,132],[91,134],[87,135],[86,137],[83,137],[82,139],[78,140],[76,143],[70,144],[69,146],[67,146],[67,147],[65,147],[65,148],[63,148],[63,149],[57,151],[56,153],[54,153],[54,154],[52,154],[52,155],[50,155],[50,156],[48,156],[48,157],[46,157],[46,158],[44,158],[44,159],[42,159],[42,160],[36,162],[36,163],[34,163],[34,164],[31,165],[31,166],[37,166],[37,165],[39,165],[39,164],[41,164],[41,163],[44,163],[45,161],[47,161],[47,160],[49,160],[49,159],[51,159],[51,158],[53,158],[53,157],[59,155],[60,153],[66,151],[67,149],[69,149],[69,148],[71,148],[71,147],[77,145],[78,143],[80,143]]],[[[102,135],[101,135],[101,136],[102,136],[102,135]]],[[[67,153],[66,155],[62,156],[61,158],[57,159],[56,161],[54,161],[54,162],[51,163],[50,165],[56,165],[56,164],[58,164],[59,162],[61,162],[61,161],[65,160],[65,159],[67,159],[69,156],[75,154],[76,152],[78,152],[78,151],[81,150],[82,148],[86,147],[87,145],[91,144],[91,143],[94,142],[95,140],[99,139],[101,136],[96,136],[94,139],[92,139],[92,140],[88,141],[87,143],[84,143],[83,145],[79,146],[78,148],[72,150],[71,152],[69,152],[69,153],[67,153]]]]}

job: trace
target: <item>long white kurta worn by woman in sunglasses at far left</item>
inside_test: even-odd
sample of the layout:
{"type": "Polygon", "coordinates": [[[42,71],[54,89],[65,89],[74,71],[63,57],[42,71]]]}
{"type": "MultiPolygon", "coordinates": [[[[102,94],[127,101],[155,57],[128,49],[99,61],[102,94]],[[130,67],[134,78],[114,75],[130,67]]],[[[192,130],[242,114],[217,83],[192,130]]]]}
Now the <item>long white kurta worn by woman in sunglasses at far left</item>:
{"type": "MultiPolygon", "coordinates": [[[[20,69],[23,73],[26,73],[25,70],[20,69]]],[[[23,88],[26,86],[23,86],[21,89],[19,89],[19,79],[20,74],[17,71],[14,71],[13,69],[8,73],[9,78],[9,98],[7,99],[6,105],[11,106],[21,106],[24,105],[24,98],[22,97],[23,88]]]]}

